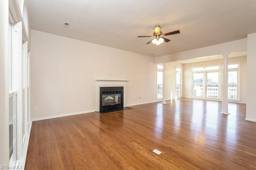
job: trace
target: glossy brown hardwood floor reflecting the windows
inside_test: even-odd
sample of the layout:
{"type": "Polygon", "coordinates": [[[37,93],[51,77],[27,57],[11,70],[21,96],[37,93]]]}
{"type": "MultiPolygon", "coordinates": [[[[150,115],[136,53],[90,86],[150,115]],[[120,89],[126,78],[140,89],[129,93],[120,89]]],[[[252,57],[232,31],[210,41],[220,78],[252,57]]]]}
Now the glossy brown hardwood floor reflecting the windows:
{"type": "Polygon", "coordinates": [[[32,124],[26,170],[256,169],[245,104],[178,99],[32,124]],[[160,155],[152,152],[160,150],[160,155]]]}

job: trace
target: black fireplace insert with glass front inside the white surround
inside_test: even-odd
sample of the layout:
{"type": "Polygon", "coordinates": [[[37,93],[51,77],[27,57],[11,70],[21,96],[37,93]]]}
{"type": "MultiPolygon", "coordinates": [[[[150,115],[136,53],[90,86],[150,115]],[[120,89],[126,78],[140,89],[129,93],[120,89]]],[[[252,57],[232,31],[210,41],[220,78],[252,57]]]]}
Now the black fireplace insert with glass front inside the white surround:
{"type": "Polygon", "coordinates": [[[100,113],[123,110],[124,87],[100,87],[100,113]]]}

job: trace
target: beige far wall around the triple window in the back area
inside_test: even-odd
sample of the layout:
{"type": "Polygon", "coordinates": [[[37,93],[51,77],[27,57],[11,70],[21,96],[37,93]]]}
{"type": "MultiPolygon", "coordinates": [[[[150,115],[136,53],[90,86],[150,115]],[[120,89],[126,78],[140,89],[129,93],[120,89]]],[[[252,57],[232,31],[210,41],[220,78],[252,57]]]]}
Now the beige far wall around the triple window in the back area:
{"type": "MultiPolygon", "coordinates": [[[[228,58],[228,63],[240,63],[240,102],[246,102],[246,56],[228,58]],[[241,98],[244,96],[244,99],[241,98]]],[[[202,66],[222,65],[223,60],[203,61],[202,66]]],[[[183,97],[192,97],[192,67],[199,67],[201,62],[187,63],[183,65],[183,97]]]]}

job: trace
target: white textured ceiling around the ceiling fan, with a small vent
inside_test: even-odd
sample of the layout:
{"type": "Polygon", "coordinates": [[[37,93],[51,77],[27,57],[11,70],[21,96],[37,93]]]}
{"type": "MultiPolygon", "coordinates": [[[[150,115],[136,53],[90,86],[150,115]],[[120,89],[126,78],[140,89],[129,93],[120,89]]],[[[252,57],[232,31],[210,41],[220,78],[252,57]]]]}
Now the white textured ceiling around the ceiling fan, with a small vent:
{"type": "Polygon", "coordinates": [[[256,0],[27,0],[27,6],[33,30],[153,57],[256,32],[256,0]],[[180,34],[158,46],[137,38],[151,36],[156,25],[180,34]]]}

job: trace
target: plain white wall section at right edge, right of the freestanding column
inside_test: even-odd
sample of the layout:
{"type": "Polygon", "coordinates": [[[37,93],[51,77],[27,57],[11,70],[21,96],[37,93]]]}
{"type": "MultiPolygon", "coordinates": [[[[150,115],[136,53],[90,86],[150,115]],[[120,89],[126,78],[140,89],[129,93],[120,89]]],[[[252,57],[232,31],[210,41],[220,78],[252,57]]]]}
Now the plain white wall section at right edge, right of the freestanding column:
{"type": "Polygon", "coordinates": [[[246,120],[256,122],[256,33],[247,36],[247,103],[246,103],[246,120]]]}

